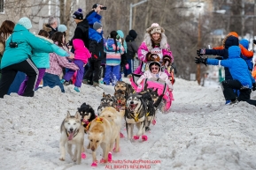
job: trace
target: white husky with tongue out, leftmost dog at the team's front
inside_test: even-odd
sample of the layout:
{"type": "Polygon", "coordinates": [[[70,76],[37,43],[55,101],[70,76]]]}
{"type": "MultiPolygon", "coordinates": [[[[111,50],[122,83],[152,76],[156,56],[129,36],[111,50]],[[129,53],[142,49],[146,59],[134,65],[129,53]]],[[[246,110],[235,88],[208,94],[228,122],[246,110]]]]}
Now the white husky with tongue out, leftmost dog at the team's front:
{"type": "Polygon", "coordinates": [[[84,132],[83,126],[81,125],[81,115],[76,112],[75,115],[70,115],[67,111],[66,118],[63,120],[60,126],[60,140],[59,149],[60,157],[59,159],[64,161],[66,159],[66,149],[69,153],[71,159],[77,164],[81,164],[81,151],[84,151],[83,141],[84,132]],[[74,154],[72,152],[72,144],[75,145],[74,154]]]}

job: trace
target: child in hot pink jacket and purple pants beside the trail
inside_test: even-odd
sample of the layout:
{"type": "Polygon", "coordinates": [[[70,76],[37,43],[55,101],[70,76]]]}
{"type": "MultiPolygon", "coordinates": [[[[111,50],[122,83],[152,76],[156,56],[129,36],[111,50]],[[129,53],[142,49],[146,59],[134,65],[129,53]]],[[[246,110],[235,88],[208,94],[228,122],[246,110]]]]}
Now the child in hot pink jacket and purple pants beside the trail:
{"type": "MultiPolygon", "coordinates": [[[[79,88],[81,87],[81,81],[83,78],[84,69],[83,67],[88,63],[88,59],[90,58],[90,53],[88,48],[84,46],[84,43],[80,39],[73,40],[74,47],[74,63],[79,67],[76,73],[76,79],[74,83],[74,90],[76,92],[80,92],[79,88]]],[[[61,80],[61,83],[64,84],[66,81],[69,81],[73,75],[75,70],[68,70],[61,80]]]]}

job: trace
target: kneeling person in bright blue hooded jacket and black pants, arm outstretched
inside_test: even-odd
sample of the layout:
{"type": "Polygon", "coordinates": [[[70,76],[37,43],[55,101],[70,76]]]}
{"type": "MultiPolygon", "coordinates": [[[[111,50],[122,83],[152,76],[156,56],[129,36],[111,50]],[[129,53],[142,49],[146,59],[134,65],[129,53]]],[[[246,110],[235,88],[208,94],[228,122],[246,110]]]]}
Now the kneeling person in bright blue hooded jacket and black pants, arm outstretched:
{"type": "Polygon", "coordinates": [[[236,104],[238,101],[246,101],[256,106],[256,100],[251,100],[252,91],[256,90],[255,79],[252,78],[251,72],[244,59],[240,57],[241,49],[238,46],[229,47],[229,58],[226,60],[210,59],[196,57],[195,63],[205,63],[206,65],[221,65],[229,68],[229,72],[233,79],[221,82],[223,94],[226,100],[231,100],[230,104],[236,104]],[[233,89],[240,90],[239,97],[233,89]]]}

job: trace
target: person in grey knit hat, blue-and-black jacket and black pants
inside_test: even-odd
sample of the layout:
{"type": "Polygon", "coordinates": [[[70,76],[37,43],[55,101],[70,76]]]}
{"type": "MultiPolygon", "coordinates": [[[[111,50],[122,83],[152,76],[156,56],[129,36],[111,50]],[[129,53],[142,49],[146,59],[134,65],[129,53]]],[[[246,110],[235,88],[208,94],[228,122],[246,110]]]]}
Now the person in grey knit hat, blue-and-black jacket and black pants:
{"type": "Polygon", "coordinates": [[[102,37],[102,25],[98,22],[94,23],[93,29],[89,28],[89,70],[87,70],[83,83],[89,85],[90,76],[93,75],[93,86],[98,86],[100,78],[101,60],[104,58],[104,40],[102,37]]]}

